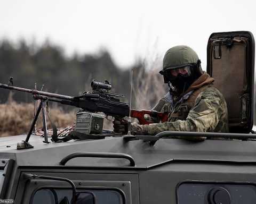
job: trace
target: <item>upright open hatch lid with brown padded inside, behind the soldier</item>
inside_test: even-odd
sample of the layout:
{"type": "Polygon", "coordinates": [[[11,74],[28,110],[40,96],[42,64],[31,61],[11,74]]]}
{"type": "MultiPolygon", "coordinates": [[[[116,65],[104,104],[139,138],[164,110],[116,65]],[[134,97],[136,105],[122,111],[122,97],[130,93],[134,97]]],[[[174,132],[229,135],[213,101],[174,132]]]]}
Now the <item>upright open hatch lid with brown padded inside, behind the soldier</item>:
{"type": "Polygon", "coordinates": [[[207,44],[207,73],[227,101],[229,132],[249,133],[254,115],[254,53],[251,32],[216,32],[207,44]]]}

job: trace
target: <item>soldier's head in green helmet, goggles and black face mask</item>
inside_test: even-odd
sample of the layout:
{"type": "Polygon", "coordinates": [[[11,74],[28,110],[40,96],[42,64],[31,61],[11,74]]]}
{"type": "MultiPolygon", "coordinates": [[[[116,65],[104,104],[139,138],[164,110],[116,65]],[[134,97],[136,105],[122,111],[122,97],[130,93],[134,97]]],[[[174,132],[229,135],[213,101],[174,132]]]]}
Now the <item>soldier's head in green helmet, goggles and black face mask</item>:
{"type": "Polygon", "coordinates": [[[164,83],[171,83],[177,94],[181,94],[203,74],[201,61],[196,52],[180,45],[167,50],[163,59],[163,70],[159,72],[164,83]]]}

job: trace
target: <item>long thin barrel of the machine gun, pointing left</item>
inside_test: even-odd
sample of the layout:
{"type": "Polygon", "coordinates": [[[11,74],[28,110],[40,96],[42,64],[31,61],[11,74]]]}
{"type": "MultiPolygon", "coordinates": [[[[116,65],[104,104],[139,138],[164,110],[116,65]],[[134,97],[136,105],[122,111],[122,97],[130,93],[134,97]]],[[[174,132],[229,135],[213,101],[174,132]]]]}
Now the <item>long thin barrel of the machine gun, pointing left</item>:
{"type": "Polygon", "coordinates": [[[0,88],[10,89],[10,90],[17,90],[17,91],[23,91],[23,92],[31,93],[33,95],[42,95],[42,96],[48,96],[48,97],[54,97],[54,98],[59,98],[59,99],[72,100],[72,101],[75,98],[73,96],[65,96],[65,95],[60,95],[60,94],[53,94],[53,93],[45,92],[45,91],[37,91],[35,89],[26,89],[26,88],[8,86],[7,84],[2,84],[2,83],[0,83],[0,88]]]}

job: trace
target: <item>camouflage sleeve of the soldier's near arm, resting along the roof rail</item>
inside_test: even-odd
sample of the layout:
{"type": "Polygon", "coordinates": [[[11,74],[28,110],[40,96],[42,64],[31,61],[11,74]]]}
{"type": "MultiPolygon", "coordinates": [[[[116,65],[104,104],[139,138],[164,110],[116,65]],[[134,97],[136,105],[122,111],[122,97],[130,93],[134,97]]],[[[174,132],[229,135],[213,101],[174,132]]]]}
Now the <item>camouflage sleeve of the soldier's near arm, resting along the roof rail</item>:
{"type": "Polygon", "coordinates": [[[195,106],[190,110],[185,121],[154,123],[148,125],[148,134],[155,135],[163,131],[213,132],[221,112],[222,100],[218,91],[205,89],[198,95],[195,106]]]}

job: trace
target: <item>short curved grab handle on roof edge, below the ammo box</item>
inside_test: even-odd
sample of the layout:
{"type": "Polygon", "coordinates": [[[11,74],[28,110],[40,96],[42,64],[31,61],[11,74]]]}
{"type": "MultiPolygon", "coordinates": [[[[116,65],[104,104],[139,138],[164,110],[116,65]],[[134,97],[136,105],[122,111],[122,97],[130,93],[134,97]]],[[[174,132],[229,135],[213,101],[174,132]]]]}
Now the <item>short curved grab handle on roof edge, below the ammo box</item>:
{"type": "Polygon", "coordinates": [[[128,159],[130,161],[130,166],[135,166],[135,160],[130,155],[109,152],[74,152],[61,159],[60,165],[64,166],[70,159],[77,157],[122,158],[128,159]]]}

